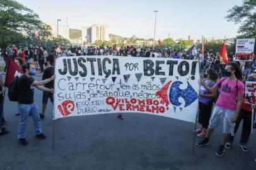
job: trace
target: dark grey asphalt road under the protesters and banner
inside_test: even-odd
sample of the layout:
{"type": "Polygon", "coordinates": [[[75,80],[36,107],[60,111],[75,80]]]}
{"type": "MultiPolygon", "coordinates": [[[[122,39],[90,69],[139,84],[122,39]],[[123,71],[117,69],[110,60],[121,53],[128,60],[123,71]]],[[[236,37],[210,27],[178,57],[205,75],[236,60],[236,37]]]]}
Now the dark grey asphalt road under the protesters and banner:
{"type": "MultiPolygon", "coordinates": [[[[36,77],[40,79],[40,77],[36,77]]],[[[41,108],[42,92],[35,91],[41,108]]],[[[26,128],[29,145],[18,145],[19,117],[16,103],[6,101],[4,114],[11,131],[0,137],[0,169],[255,169],[256,132],[248,144],[248,153],[238,138],[224,157],[215,156],[221,142],[216,129],[207,147],[195,146],[192,152],[193,123],[141,113],[76,116],[56,120],[55,149],[52,149],[52,106],[49,103],[42,129],[46,140],[36,139],[30,117],[26,128]]],[[[240,130],[237,137],[240,136],[240,130]]],[[[199,138],[197,138],[199,140],[199,138]]]]}

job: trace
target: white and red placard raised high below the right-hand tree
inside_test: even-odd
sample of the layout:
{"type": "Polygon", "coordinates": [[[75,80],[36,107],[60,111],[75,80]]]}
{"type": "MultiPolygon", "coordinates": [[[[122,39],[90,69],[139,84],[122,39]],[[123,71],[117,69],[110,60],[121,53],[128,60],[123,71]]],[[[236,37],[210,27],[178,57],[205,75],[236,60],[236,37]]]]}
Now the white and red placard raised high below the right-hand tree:
{"type": "Polygon", "coordinates": [[[254,43],[254,38],[236,39],[236,60],[252,60],[254,43]]]}

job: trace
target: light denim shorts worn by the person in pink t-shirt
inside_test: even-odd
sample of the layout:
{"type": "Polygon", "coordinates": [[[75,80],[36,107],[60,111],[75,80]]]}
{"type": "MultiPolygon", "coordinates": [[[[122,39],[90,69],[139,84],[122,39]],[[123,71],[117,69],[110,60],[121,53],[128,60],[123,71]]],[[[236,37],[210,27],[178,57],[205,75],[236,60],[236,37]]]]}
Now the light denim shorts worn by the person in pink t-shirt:
{"type": "Polygon", "coordinates": [[[222,123],[223,133],[231,133],[231,135],[234,136],[234,128],[236,123],[232,123],[231,119],[235,115],[235,112],[236,111],[224,109],[219,106],[214,106],[208,128],[216,128],[219,126],[220,123],[222,123]]]}

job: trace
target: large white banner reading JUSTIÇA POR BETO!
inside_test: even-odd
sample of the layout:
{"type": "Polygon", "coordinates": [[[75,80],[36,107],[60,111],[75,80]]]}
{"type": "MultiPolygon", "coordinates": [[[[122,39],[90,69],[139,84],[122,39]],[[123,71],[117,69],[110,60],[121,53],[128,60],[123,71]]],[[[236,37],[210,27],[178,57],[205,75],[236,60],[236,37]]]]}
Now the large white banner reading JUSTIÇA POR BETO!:
{"type": "Polygon", "coordinates": [[[55,61],[54,119],[147,113],[195,122],[196,60],[75,56],[55,61]]]}

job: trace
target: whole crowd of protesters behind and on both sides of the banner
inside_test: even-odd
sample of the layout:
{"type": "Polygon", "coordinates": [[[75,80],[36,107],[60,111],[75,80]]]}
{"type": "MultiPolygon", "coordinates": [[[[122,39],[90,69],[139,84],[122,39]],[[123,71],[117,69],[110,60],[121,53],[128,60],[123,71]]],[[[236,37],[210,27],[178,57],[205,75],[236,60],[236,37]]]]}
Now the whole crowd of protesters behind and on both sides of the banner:
{"type": "MultiPolygon", "coordinates": [[[[201,124],[194,133],[198,137],[204,137],[204,140],[197,143],[198,146],[208,145],[209,137],[219,124],[223,125],[223,140],[219,146],[216,155],[223,156],[224,148],[230,149],[233,143],[235,133],[243,120],[242,134],[240,139],[241,149],[248,152],[247,143],[250,137],[252,125],[252,109],[255,105],[245,103],[245,81],[256,81],[256,61],[255,55],[251,61],[235,61],[235,56],[232,52],[228,54],[230,62],[226,63],[219,52],[207,50],[199,52],[192,49],[192,52],[172,50],[171,48],[136,48],[133,46],[117,48],[113,47],[69,47],[64,45],[55,45],[50,52],[47,52],[45,47],[41,45],[30,45],[30,47],[19,47],[9,45],[3,50],[2,56],[5,62],[8,57],[15,60],[16,64],[20,65],[25,75],[21,77],[24,83],[24,90],[20,96],[19,113],[20,125],[18,139],[22,145],[26,145],[25,127],[29,111],[33,110],[33,118],[35,122],[35,133],[37,137],[45,139],[44,133],[40,129],[40,118],[45,117],[45,109],[47,101],[53,103],[52,89],[54,80],[54,58],[66,56],[82,56],[82,55],[112,55],[120,57],[164,57],[172,59],[189,59],[200,60],[201,75],[205,79],[201,80],[201,91],[199,94],[199,118],[201,124]],[[33,63],[33,64],[32,64],[33,63]],[[42,81],[35,81],[33,75],[40,71],[43,74],[42,81]],[[45,86],[41,86],[44,85],[45,86]],[[33,101],[33,91],[30,85],[36,86],[44,91],[42,112],[39,113],[37,105],[33,101]],[[27,87],[26,87],[27,86],[27,87]],[[28,96],[29,94],[29,96],[28,96]],[[28,98],[24,97],[28,96],[28,98]],[[25,108],[26,103],[33,104],[31,107],[25,108]]],[[[6,67],[4,68],[6,71],[6,67]]],[[[3,82],[0,82],[0,96],[3,96],[6,88],[3,82]]],[[[253,96],[252,96],[253,97],[253,96]]],[[[3,112],[3,99],[0,98],[0,112],[3,112]]],[[[255,103],[255,98],[253,104],[255,103]]],[[[3,115],[3,114],[2,114],[3,115]]],[[[1,117],[1,114],[0,114],[1,117]]],[[[118,115],[122,118],[122,115],[118,115]]],[[[2,118],[3,120],[3,118],[2,118]]],[[[2,128],[0,134],[8,133],[5,128],[2,128]]]]}

